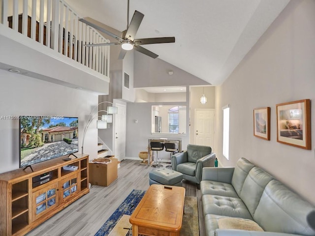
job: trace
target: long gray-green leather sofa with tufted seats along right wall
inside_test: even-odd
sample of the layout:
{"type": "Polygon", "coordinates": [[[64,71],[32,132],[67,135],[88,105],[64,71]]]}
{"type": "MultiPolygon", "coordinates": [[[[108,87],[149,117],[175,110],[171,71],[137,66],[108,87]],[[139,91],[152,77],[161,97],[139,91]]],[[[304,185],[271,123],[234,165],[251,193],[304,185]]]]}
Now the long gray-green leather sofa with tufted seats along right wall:
{"type": "Polygon", "coordinates": [[[200,189],[207,236],[315,236],[307,222],[315,207],[245,158],[235,168],[203,168],[200,189]],[[226,220],[264,232],[224,228],[226,220]]]}

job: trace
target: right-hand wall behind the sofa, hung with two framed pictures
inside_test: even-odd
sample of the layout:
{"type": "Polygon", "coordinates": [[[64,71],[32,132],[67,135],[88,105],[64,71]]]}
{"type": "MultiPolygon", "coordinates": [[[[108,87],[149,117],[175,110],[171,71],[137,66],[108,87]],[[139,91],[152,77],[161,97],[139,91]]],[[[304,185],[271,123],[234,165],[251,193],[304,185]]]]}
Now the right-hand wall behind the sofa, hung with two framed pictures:
{"type": "Polygon", "coordinates": [[[216,88],[217,156],[223,166],[251,160],[315,204],[312,150],[277,142],[276,104],[311,99],[315,111],[315,1],[290,1],[229,78],[216,88]],[[230,160],[222,156],[222,110],[230,105],[230,160]],[[253,109],[271,107],[271,140],[253,136],[253,109]]]}

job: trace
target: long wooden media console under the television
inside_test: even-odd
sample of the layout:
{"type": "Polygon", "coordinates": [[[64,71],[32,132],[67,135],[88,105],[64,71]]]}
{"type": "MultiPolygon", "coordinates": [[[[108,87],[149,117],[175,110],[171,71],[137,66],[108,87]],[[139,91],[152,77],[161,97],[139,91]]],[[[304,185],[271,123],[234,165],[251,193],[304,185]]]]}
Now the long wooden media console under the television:
{"type": "Polygon", "coordinates": [[[62,156],[34,164],[33,172],[20,168],[0,174],[1,236],[25,235],[90,192],[89,155],[75,155],[68,161],[62,156]],[[67,165],[77,168],[64,170],[67,165]]]}

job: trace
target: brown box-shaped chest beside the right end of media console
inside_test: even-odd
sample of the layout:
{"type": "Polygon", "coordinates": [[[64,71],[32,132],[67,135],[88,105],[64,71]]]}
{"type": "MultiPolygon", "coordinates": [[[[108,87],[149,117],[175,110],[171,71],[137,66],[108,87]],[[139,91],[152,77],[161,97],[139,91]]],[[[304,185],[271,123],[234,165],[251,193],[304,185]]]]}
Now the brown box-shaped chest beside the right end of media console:
{"type": "Polygon", "coordinates": [[[93,185],[108,186],[118,177],[118,160],[117,158],[110,158],[111,163],[99,164],[89,163],[89,180],[93,185]]]}

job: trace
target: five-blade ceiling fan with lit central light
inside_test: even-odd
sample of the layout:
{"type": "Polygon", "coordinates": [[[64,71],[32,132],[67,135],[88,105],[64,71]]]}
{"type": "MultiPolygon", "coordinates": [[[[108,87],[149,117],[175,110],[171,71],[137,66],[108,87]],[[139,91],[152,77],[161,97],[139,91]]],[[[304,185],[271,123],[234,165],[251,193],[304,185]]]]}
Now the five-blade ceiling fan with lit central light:
{"type": "Polygon", "coordinates": [[[79,21],[106,33],[107,35],[116,38],[119,42],[115,43],[99,43],[99,44],[86,44],[87,47],[95,47],[95,46],[108,46],[108,45],[121,45],[122,50],[119,54],[118,59],[124,59],[128,50],[136,50],[140,53],[143,53],[151,58],[157,58],[158,55],[141,47],[143,44],[156,44],[156,43],[174,43],[175,37],[159,37],[159,38],[138,38],[135,39],[135,35],[140,27],[144,14],[139,11],[134,11],[131,22],[129,24],[129,0],[127,5],[127,29],[122,32],[121,36],[117,36],[116,34],[103,29],[85,19],[80,19],[79,21]]]}

